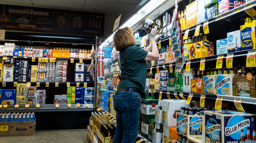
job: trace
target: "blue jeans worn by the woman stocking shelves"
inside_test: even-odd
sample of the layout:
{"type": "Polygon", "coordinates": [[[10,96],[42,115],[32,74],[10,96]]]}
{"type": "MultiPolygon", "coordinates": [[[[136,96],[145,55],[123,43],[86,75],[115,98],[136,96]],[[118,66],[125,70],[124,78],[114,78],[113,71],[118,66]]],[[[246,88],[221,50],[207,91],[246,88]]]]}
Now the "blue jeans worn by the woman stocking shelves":
{"type": "Polygon", "coordinates": [[[117,126],[113,143],[135,143],[139,129],[140,95],[117,91],[113,98],[117,126]]]}

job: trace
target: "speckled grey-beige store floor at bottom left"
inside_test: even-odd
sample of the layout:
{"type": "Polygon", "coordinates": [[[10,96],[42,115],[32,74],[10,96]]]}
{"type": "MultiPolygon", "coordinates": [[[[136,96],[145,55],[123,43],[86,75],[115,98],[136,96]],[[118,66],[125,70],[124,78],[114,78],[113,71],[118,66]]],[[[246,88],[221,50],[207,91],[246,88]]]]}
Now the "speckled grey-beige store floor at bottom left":
{"type": "Polygon", "coordinates": [[[36,131],[34,135],[0,137],[1,143],[88,143],[87,129],[36,131]]]}

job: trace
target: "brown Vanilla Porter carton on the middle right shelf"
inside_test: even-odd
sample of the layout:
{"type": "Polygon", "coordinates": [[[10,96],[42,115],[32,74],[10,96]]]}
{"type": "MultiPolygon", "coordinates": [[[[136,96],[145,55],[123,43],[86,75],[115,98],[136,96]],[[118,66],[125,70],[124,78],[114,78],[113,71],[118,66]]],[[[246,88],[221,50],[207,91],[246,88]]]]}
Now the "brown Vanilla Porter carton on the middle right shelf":
{"type": "Polygon", "coordinates": [[[255,98],[256,78],[249,78],[245,74],[235,74],[233,76],[233,96],[255,98]]]}

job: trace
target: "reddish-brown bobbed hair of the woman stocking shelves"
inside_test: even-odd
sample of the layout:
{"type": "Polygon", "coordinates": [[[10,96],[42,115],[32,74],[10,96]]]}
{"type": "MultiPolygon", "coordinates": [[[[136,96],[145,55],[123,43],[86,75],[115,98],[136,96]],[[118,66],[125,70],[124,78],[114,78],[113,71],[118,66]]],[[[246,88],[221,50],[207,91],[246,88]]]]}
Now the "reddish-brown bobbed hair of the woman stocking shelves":
{"type": "Polygon", "coordinates": [[[121,51],[123,48],[134,46],[134,33],[132,28],[124,27],[117,30],[114,35],[114,47],[117,51],[121,51]]]}

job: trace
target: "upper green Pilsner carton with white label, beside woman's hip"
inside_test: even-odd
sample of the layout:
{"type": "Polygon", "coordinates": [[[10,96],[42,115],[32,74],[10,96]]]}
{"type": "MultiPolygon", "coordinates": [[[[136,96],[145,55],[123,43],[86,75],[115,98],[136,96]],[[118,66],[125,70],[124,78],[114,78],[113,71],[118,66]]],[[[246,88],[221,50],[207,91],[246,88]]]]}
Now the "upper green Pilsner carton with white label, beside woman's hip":
{"type": "Polygon", "coordinates": [[[155,119],[156,107],[158,100],[156,99],[142,99],[140,113],[142,116],[146,116],[145,119],[155,119]]]}

